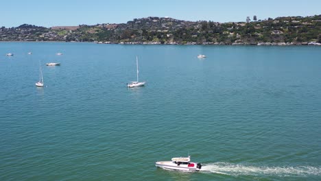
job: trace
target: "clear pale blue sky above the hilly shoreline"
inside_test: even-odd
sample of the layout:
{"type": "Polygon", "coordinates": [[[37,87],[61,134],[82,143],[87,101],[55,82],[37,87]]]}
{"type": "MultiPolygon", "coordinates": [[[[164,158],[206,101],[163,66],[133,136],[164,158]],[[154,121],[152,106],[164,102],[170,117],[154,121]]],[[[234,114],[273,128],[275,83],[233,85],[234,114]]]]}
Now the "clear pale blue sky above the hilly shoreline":
{"type": "Polygon", "coordinates": [[[0,27],[126,23],[147,16],[224,23],[246,21],[246,16],[252,19],[253,15],[263,20],[321,14],[320,0],[10,0],[0,4],[0,27]]]}

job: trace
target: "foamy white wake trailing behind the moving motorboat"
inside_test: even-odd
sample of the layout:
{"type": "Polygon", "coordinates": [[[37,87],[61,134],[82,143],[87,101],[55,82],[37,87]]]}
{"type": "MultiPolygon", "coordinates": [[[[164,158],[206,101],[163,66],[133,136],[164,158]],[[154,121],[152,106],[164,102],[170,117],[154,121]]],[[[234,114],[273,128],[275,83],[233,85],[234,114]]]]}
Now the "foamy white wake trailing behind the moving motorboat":
{"type": "Polygon", "coordinates": [[[321,167],[256,167],[227,162],[204,164],[202,172],[229,176],[321,176],[321,167]]]}

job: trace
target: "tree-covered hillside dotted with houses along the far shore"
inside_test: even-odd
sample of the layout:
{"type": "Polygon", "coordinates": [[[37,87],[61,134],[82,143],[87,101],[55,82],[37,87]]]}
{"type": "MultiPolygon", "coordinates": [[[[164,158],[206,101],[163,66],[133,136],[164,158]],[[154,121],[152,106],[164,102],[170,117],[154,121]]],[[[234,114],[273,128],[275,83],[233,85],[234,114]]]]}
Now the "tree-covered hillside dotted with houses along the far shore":
{"type": "MultiPolygon", "coordinates": [[[[254,20],[257,17],[254,16],[254,20]]],[[[307,45],[321,43],[321,15],[264,21],[216,23],[148,17],[121,24],[46,28],[35,25],[0,28],[2,41],[97,41],[98,43],[307,45]]]]}

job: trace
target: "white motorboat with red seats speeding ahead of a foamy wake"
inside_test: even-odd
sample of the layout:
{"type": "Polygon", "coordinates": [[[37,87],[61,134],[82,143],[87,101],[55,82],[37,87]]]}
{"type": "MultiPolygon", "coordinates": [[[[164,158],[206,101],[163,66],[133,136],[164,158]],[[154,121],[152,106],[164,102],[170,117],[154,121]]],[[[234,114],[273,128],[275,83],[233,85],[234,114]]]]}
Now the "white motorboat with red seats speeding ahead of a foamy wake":
{"type": "Polygon", "coordinates": [[[197,162],[191,162],[191,156],[171,158],[171,161],[159,161],[155,163],[156,167],[178,171],[200,171],[202,165],[197,162]]]}

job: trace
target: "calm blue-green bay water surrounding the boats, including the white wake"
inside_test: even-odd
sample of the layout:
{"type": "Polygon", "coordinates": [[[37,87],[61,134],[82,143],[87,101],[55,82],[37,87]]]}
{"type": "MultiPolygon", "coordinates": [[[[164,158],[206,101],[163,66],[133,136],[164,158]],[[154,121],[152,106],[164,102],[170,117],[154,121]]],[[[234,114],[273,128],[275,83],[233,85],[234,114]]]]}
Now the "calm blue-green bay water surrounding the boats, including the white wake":
{"type": "Polygon", "coordinates": [[[0,43],[0,180],[321,180],[320,54],[0,43]],[[154,165],[187,154],[202,171],[154,165]]]}

